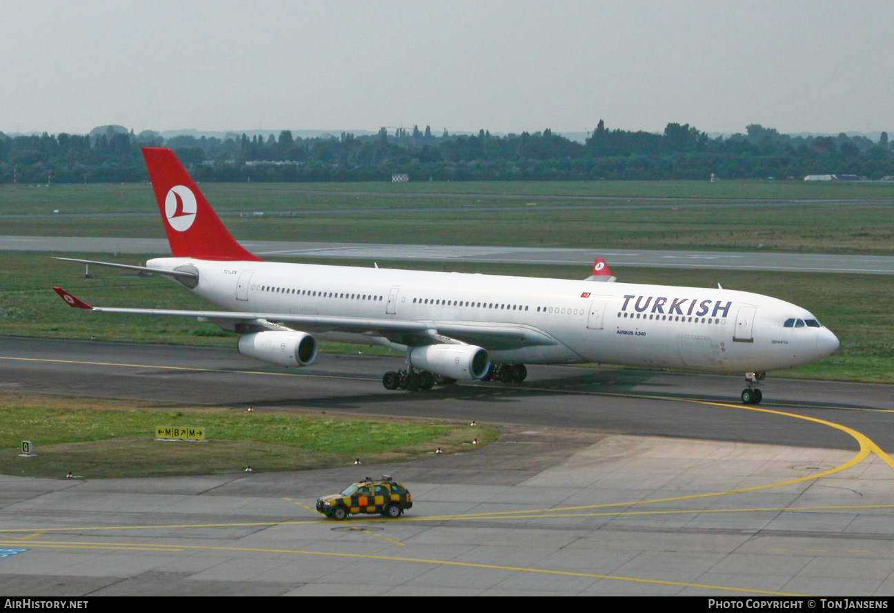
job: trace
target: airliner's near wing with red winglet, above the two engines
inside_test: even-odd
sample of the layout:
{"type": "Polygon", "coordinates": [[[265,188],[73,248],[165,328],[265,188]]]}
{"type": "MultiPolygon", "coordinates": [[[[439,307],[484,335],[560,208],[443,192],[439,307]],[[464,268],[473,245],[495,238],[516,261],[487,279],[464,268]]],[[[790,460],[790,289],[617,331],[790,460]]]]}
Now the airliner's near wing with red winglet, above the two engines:
{"type": "Polygon", "coordinates": [[[166,309],[128,309],[97,307],[54,286],[66,304],[75,309],[104,313],[130,313],[134,315],[169,315],[195,317],[215,322],[226,321],[256,325],[269,324],[297,326],[305,332],[350,332],[384,336],[388,340],[408,346],[433,345],[449,340],[459,340],[485,349],[510,349],[531,345],[556,345],[552,336],[536,328],[506,324],[476,324],[463,321],[414,321],[409,319],[376,319],[360,317],[329,317],[319,315],[293,315],[249,311],[176,311],[166,309]]]}

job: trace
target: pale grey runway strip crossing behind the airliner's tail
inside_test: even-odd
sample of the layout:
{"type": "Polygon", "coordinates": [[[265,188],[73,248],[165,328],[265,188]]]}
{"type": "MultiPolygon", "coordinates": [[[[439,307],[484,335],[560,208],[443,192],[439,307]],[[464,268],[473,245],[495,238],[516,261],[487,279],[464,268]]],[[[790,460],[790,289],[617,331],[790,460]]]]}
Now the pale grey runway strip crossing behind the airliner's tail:
{"type": "MultiPolygon", "coordinates": [[[[432,260],[547,265],[593,264],[602,256],[612,266],[649,268],[713,268],[779,270],[860,275],[894,275],[894,256],[748,251],[649,251],[623,249],[561,249],[549,247],[478,247],[468,245],[408,245],[375,243],[291,243],[246,241],[247,249],[268,259],[338,258],[358,260],[432,260]]],[[[167,254],[165,239],[90,238],[64,236],[0,236],[0,251],[51,251],[167,254]]]]}

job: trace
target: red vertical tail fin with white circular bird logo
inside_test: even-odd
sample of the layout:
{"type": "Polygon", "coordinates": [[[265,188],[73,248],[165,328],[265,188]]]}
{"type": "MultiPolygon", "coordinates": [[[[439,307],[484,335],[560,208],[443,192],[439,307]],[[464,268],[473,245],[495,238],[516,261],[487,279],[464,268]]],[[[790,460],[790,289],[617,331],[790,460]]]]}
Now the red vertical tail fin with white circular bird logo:
{"type": "Polygon", "coordinates": [[[172,149],[144,147],[143,157],[156,192],[164,231],[175,257],[258,261],[223,226],[205,194],[172,149]]]}

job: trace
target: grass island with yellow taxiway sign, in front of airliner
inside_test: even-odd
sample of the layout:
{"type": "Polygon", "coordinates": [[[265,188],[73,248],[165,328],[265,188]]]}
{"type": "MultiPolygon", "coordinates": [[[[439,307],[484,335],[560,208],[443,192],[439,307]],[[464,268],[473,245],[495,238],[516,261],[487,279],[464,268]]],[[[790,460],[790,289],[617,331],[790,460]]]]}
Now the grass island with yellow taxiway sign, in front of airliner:
{"type": "MultiPolygon", "coordinates": [[[[397,462],[486,444],[499,432],[455,423],[0,395],[0,473],[85,478],[287,471],[397,462]],[[162,442],[156,426],[207,429],[204,443],[162,442]],[[22,439],[37,457],[18,456],[22,439]]],[[[477,447],[476,447],[477,448],[477,447]]]]}

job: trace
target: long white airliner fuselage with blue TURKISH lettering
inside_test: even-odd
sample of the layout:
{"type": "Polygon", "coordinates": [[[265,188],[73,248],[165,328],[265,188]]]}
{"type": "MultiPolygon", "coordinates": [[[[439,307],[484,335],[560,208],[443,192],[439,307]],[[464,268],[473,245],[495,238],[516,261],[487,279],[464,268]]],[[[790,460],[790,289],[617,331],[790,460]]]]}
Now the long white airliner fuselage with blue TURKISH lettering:
{"type": "Polygon", "coordinates": [[[839,346],[828,328],[783,326],[787,319],[814,320],[805,309],[735,290],[262,261],[147,263],[186,264],[199,271],[191,291],[227,311],[511,324],[556,341],[491,350],[494,362],[747,372],[814,362],[839,346]]]}

